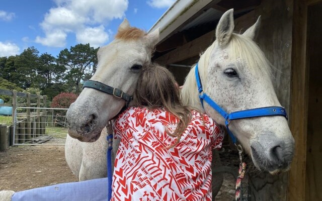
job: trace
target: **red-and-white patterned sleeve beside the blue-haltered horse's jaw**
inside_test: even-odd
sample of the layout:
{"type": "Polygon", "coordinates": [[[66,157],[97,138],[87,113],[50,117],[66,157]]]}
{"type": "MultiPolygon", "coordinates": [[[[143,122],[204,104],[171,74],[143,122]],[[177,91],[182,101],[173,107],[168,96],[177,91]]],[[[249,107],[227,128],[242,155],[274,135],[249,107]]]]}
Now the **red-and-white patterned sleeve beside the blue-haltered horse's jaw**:
{"type": "Polygon", "coordinates": [[[220,125],[218,125],[215,121],[211,119],[208,115],[204,114],[203,115],[204,122],[206,127],[209,130],[209,133],[211,133],[212,136],[212,149],[220,149],[222,140],[224,137],[224,130],[220,125]]]}

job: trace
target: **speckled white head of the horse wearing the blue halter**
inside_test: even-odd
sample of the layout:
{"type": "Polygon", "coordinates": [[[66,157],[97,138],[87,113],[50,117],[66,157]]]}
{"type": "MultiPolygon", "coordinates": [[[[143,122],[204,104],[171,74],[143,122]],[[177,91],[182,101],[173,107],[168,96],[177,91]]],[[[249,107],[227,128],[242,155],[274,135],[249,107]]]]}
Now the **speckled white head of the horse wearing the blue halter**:
{"type": "MultiPolygon", "coordinates": [[[[260,18],[243,35],[235,34],[233,10],[227,11],[217,25],[216,40],[198,62],[203,92],[228,114],[281,106],[272,84],[270,64],[254,42],[259,27],[260,18]]],[[[209,104],[204,102],[201,106],[195,79],[192,69],[182,90],[184,99],[190,97],[186,98],[186,104],[204,110],[217,123],[225,125],[222,115],[209,104]],[[189,87],[194,87],[193,94],[189,92],[189,87]]],[[[234,120],[230,121],[229,130],[259,170],[274,174],[289,169],[294,138],[285,117],[234,120]]]]}

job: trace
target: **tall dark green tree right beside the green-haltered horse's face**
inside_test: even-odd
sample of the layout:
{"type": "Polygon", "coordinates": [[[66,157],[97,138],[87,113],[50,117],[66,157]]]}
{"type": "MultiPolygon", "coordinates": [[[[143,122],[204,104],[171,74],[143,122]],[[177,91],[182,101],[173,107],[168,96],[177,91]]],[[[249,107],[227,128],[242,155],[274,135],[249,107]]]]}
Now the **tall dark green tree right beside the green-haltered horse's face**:
{"type": "Polygon", "coordinates": [[[97,68],[97,51],[99,48],[90,47],[90,44],[78,44],[61,50],[57,63],[66,68],[64,80],[68,91],[81,92],[81,81],[88,80],[97,68]]]}

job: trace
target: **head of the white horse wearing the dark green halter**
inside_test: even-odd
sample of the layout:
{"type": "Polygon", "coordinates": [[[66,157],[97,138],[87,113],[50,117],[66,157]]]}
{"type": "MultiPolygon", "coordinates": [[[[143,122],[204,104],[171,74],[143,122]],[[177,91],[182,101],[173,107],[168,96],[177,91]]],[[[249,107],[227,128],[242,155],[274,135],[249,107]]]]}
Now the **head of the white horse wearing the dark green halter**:
{"type": "MultiPolygon", "coordinates": [[[[146,34],[130,27],[125,19],[118,28],[115,40],[99,49],[98,67],[90,80],[132,94],[141,67],[151,62],[151,52],[158,38],[158,29],[146,34]]],[[[82,142],[96,141],[107,122],[126,105],[126,101],[119,98],[122,92],[115,95],[113,91],[114,95],[111,95],[94,88],[84,88],[67,111],[68,134],[82,142]]]]}

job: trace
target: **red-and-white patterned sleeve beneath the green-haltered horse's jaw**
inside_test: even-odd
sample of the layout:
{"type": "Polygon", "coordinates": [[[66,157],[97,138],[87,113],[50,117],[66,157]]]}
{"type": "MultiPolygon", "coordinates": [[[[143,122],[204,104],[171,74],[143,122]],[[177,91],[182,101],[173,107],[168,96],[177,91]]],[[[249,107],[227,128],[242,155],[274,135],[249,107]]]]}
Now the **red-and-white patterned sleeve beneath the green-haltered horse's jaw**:
{"type": "Polygon", "coordinates": [[[134,107],[126,109],[124,112],[119,114],[113,122],[114,138],[122,138],[122,133],[125,131],[128,125],[129,112],[134,110],[134,107]]]}

